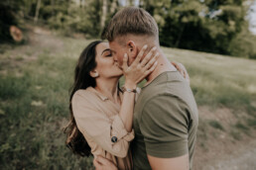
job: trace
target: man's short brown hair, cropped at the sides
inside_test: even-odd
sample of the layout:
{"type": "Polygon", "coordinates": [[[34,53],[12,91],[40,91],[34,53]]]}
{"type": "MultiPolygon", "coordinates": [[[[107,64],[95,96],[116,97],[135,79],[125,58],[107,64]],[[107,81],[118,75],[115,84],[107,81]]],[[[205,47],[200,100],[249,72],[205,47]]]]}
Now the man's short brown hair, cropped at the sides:
{"type": "Polygon", "coordinates": [[[104,29],[101,39],[112,42],[128,34],[149,36],[158,39],[158,25],[144,9],[126,7],[117,12],[104,29]]]}

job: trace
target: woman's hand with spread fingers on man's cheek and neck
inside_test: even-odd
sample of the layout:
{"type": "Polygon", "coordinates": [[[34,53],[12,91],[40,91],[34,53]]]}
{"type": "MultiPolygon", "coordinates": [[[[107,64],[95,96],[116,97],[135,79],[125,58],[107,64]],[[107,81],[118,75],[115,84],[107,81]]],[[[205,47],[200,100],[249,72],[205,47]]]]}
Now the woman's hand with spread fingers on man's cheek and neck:
{"type": "Polygon", "coordinates": [[[144,45],[138,53],[133,63],[128,66],[128,56],[125,53],[123,58],[123,73],[125,76],[125,83],[131,85],[137,85],[145,77],[147,77],[152,71],[155,70],[158,64],[159,53],[156,51],[157,47],[152,47],[151,50],[142,58],[145,54],[147,45],[144,45]]]}

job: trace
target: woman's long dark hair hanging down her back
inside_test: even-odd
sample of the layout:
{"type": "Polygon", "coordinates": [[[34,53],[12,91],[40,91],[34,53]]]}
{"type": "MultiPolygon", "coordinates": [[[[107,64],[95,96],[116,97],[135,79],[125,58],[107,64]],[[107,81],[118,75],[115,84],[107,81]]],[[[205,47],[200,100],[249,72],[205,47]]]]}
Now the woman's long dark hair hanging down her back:
{"type": "Polygon", "coordinates": [[[79,89],[86,89],[87,87],[95,87],[95,79],[92,78],[89,72],[96,67],[96,45],[101,41],[95,41],[89,43],[81,52],[78,62],[74,69],[74,83],[70,89],[69,97],[69,113],[70,120],[66,127],[64,127],[64,133],[67,134],[65,144],[69,147],[73,153],[80,156],[89,156],[90,147],[85,140],[82,133],[76,126],[73,118],[71,100],[73,94],[79,89]]]}

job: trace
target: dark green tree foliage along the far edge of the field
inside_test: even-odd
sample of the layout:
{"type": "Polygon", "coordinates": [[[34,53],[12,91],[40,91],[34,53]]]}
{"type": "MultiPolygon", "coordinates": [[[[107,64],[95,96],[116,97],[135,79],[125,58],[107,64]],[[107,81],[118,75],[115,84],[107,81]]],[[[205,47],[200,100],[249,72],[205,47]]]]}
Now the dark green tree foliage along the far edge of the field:
{"type": "MultiPolygon", "coordinates": [[[[103,14],[104,3],[99,0],[42,0],[39,20],[66,36],[82,33],[87,38],[98,38],[103,29],[101,20],[107,24],[121,8],[117,0],[106,1],[107,10],[103,14]]],[[[0,3],[4,10],[1,18],[17,23],[13,11],[19,11],[25,18],[34,19],[38,2],[3,1],[0,3]]],[[[162,45],[256,58],[256,38],[246,31],[248,21],[245,16],[249,7],[242,0],[140,0],[139,6],[155,18],[162,45]]],[[[10,39],[11,23],[0,24],[3,25],[0,37],[10,39]]]]}

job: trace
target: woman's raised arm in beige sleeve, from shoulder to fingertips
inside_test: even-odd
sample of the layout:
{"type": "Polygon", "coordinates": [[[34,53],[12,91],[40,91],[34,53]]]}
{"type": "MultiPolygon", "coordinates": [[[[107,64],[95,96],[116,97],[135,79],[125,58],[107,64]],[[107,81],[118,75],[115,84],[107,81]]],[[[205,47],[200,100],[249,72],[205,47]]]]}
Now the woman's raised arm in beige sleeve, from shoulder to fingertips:
{"type": "MultiPolygon", "coordinates": [[[[138,60],[134,61],[130,67],[125,67],[125,87],[127,89],[136,87],[148,73],[154,70],[157,56],[149,53],[141,64],[145,67],[138,67],[143,50],[138,55],[138,60]],[[147,63],[147,64],[146,64],[147,63]],[[155,65],[154,65],[155,64],[155,65]]],[[[127,64],[127,59],[124,59],[127,64]]],[[[133,108],[135,93],[124,92],[123,102],[118,115],[110,121],[109,118],[95,107],[93,96],[84,91],[77,91],[72,98],[72,110],[78,129],[84,136],[93,138],[99,146],[109,153],[125,157],[129,148],[129,141],[134,138],[132,130],[133,108]]]]}

